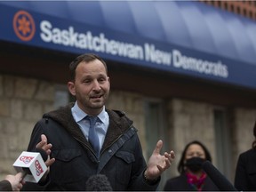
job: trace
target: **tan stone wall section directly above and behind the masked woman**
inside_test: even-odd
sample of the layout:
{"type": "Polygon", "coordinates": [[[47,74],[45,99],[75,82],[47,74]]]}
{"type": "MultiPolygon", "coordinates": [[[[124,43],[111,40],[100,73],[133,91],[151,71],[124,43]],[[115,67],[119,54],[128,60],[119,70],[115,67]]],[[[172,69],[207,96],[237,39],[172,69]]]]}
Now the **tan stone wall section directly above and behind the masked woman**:
{"type": "MultiPolygon", "coordinates": [[[[200,140],[211,152],[214,162],[214,127],[212,120],[212,105],[189,100],[170,100],[168,110],[170,114],[170,135],[172,148],[175,148],[176,160],[173,164],[175,175],[182,150],[192,140],[200,140]]],[[[172,175],[173,176],[173,175],[172,175]]]]}

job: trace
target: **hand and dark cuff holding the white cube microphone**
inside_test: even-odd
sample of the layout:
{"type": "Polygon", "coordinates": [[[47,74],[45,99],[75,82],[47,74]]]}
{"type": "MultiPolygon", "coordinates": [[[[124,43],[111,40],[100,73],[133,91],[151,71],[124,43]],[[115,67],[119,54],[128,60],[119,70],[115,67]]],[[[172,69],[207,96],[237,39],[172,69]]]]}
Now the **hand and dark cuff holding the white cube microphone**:
{"type": "Polygon", "coordinates": [[[4,180],[0,181],[0,191],[20,191],[24,184],[22,175],[22,172],[18,172],[15,175],[6,175],[4,180]]]}

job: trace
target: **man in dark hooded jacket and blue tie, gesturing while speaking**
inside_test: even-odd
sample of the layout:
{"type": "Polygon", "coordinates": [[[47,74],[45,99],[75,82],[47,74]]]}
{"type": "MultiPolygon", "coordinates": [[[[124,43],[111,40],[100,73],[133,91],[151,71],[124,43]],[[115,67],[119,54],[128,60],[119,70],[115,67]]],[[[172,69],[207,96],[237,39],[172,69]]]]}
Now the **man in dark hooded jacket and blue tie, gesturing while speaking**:
{"type": "Polygon", "coordinates": [[[85,190],[86,180],[104,174],[113,190],[156,190],[174,152],[161,155],[163,141],[158,140],[146,164],[132,120],[105,107],[110,79],[107,64],[98,55],[78,56],[69,70],[68,91],[76,101],[44,114],[28,144],[28,151],[48,150],[48,159],[54,159],[48,164],[51,169],[45,180],[22,189],[85,190]]]}

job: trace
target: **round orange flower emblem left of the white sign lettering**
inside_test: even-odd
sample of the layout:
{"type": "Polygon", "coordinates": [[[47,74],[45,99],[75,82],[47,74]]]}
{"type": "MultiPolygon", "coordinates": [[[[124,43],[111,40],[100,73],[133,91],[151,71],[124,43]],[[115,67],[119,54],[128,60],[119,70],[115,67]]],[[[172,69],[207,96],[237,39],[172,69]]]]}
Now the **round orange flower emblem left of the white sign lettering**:
{"type": "Polygon", "coordinates": [[[35,35],[36,25],[28,12],[16,12],[13,17],[12,25],[16,36],[22,41],[30,41],[35,35]]]}

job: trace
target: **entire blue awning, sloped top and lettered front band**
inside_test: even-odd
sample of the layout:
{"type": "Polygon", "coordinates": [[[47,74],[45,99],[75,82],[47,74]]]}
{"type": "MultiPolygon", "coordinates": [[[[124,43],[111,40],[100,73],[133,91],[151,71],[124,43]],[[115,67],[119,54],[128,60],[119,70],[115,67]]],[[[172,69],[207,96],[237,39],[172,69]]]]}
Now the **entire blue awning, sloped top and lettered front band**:
{"type": "Polygon", "coordinates": [[[255,22],[200,2],[4,1],[0,16],[4,41],[256,89],[255,22]]]}

